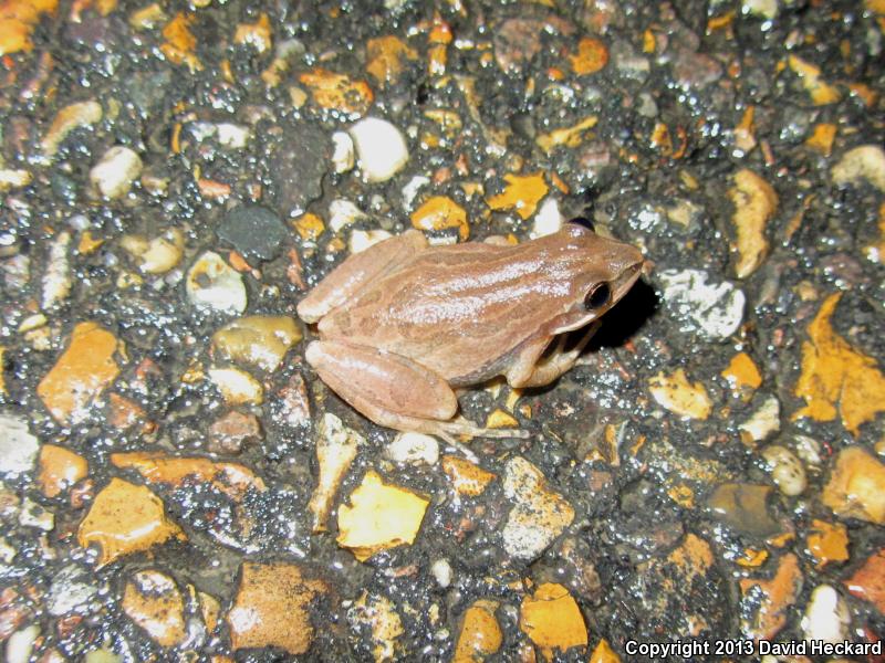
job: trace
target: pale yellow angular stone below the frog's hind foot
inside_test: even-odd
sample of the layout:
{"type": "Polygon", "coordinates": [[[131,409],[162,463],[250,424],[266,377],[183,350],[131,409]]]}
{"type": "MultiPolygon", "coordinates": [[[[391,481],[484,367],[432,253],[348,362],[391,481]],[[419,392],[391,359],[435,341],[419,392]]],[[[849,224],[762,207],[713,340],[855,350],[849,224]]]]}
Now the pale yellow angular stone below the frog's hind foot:
{"type": "Polygon", "coordinates": [[[374,470],[351,493],[351,505],[339,507],[339,538],[343,548],[365,561],[376,552],[412,544],[429,501],[412,491],[386,484],[374,470]]]}

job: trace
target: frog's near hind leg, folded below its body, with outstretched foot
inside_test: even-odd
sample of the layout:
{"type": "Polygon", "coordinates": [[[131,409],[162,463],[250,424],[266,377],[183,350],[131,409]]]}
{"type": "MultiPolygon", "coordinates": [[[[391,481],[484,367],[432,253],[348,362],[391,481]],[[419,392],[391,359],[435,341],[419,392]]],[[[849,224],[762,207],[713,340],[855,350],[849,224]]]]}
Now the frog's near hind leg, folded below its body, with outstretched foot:
{"type": "Polygon", "coordinates": [[[379,425],[451,439],[523,436],[455,419],[458,399],[448,382],[408,357],[343,340],[316,340],[304,354],[320,378],[355,410],[379,425]]]}

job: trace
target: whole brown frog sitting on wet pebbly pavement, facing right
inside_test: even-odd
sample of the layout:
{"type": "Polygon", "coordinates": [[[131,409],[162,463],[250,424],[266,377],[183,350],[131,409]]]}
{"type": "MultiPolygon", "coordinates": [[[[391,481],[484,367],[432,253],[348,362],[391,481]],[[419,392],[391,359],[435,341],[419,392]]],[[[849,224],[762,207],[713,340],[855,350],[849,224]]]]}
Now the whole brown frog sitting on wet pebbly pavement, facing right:
{"type": "Polygon", "coordinates": [[[382,427],[447,441],[528,436],[467,420],[459,392],[499,377],[518,389],[556,380],[644,259],[585,218],[522,243],[502,240],[431,245],[410,229],[351,254],[296,306],[319,335],[306,362],[382,427]]]}

